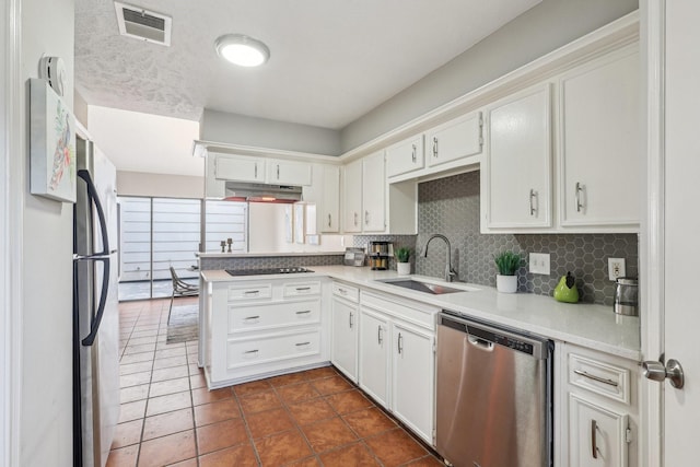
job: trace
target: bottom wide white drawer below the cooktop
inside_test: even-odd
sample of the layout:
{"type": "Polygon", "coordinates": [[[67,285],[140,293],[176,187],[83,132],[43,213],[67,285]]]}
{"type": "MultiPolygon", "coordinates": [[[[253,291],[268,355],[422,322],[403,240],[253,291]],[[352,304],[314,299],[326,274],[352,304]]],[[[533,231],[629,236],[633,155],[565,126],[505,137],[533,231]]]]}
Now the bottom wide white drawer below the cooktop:
{"type": "Polygon", "coordinates": [[[230,339],[226,346],[229,370],[292,360],[320,353],[320,330],[267,335],[250,339],[230,339]]]}

